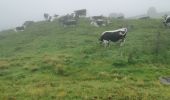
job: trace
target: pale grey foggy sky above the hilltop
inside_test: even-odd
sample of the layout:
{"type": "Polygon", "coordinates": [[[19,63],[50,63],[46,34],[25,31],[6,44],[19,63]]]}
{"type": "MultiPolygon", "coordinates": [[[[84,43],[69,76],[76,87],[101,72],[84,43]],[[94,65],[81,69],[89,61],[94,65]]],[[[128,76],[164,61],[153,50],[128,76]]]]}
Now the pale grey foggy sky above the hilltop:
{"type": "Polygon", "coordinates": [[[149,7],[170,11],[170,0],[0,0],[0,30],[21,25],[26,20],[43,20],[43,13],[67,14],[87,9],[88,16],[124,13],[126,17],[144,14],[149,7]]]}

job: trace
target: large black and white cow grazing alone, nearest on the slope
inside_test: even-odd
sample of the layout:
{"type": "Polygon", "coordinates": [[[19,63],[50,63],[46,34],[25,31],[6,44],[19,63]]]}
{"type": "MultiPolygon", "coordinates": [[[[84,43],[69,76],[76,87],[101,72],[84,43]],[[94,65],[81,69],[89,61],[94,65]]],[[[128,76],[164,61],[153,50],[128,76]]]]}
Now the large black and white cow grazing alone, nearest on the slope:
{"type": "Polygon", "coordinates": [[[100,44],[104,44],[105,47],[109,46],[110,41],[117,42],[120,41],[120,46],[125,41],[127,34],[127,28],[120,28],[113,31],[105,31],[100,36],[100,44]]]}

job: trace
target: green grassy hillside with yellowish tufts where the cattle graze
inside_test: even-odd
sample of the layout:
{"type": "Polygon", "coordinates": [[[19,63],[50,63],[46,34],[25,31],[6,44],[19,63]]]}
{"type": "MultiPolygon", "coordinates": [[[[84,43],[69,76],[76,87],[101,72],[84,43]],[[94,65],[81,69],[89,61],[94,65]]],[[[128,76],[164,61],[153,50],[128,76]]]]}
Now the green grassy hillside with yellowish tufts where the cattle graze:
{"type": "Polygon", "coordinates": [[[160,20],[113,20],[94,27],[87,19],[62,27],[37,22],[24,32],[0,33],[0,99],[169,100],[170,29],[160,20]],[[124,46],[103,48],[105,30],[128,26],[124,46]]]}

